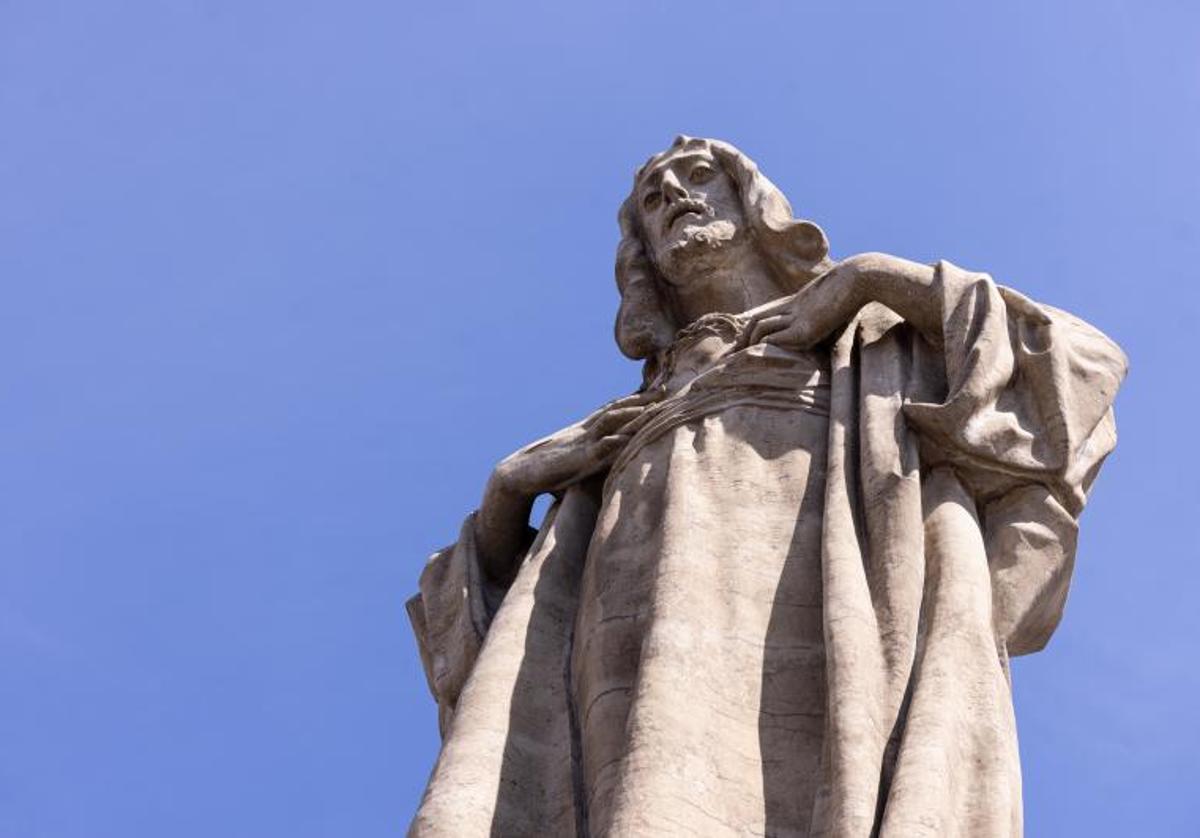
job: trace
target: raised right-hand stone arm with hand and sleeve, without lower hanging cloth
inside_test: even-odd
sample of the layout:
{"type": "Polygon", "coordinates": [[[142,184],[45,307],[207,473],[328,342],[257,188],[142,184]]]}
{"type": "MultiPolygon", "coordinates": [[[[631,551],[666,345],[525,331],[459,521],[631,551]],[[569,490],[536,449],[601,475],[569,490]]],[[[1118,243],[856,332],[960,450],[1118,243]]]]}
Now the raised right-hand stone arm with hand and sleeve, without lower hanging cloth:
{"type": "Polygon", "coordinates": [[[1078,515],[1116,438],[1112,400],[1128,367],[1116,343],[986,274],[886,253],[852,256],[750,312],[746,342],[810,348],[872,304],[914,329],[941,367],[937,403],[905,408],[923,437],[955,461],[1046,484],[1078,515]]]}

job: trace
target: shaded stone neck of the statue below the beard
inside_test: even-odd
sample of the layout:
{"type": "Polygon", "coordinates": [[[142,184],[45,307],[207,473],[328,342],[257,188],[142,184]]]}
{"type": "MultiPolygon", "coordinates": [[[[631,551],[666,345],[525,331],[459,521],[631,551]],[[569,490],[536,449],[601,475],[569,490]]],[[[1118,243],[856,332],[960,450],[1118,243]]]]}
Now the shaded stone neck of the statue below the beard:
{"type": "Polygon", "coordinates": [[[739,251],[737,258],[722,258],[718,264],[688,265],[685,279],[671,283],[680,325],[716,312],[738,315],[787,293],[757,249],[739,251]]]}

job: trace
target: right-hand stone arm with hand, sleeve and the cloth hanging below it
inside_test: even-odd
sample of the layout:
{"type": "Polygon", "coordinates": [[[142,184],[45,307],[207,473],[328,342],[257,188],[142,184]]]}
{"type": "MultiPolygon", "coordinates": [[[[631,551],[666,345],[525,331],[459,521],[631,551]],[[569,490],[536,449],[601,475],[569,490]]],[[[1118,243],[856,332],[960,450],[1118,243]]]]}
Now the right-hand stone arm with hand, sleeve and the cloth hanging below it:
{"type": "Polygon", "coordinates": [[[1013,654],[1040,648],[1066,598],[1087,492],[1116,444],[1124,354],[986,274],[880,253],[851,257],[752,312],[748,331],[751,342],[808,348],[852,322],[894,331],[908,354],[908,389],[898,395],[922,469],[953,468],[974,498],[998,638],[1013,654]]]}

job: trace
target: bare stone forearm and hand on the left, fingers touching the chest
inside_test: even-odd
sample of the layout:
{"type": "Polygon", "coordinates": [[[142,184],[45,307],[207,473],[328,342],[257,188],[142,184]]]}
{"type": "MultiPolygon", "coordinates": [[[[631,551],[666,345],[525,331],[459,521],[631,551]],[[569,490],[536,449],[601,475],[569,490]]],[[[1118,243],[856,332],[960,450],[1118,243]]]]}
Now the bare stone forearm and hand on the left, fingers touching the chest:
{"type": "Polygon", "coordinates": [[[516,574],[529,547],[534,499],[608,468],[629,442],[634,423],[661,396],[643,391],[618,399],[499,462],[475,516],[475,545],[488,576],[508,583],[516,574]]]}

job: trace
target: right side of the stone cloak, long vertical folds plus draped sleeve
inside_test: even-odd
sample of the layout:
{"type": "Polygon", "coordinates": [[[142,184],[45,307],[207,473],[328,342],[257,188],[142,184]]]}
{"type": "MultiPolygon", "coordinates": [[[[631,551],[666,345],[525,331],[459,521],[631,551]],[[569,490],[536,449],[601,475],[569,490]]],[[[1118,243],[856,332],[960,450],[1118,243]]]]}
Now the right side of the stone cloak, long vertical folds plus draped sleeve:
{"type": "Polygon", "coordinates": [[[833,349],[827,790],[814,834],[1021,833],[1008,654],[1061,617],[1120,349],[947,262],[942,346],[871,305],[833,349]]]}

